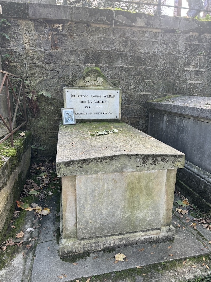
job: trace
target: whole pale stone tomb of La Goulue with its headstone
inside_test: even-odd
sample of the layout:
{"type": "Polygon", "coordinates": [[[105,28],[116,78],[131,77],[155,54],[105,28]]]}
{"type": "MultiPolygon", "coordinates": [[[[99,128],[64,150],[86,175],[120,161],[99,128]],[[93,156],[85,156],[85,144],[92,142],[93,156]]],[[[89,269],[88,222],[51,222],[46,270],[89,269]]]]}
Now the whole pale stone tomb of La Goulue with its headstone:
{"type": "Polygon", "coordinates": [[[64,107],[74,106],[76,113],[87,114],[78,114],[82,123],[59,126],[60,255],[174,237],[171,214],[176,171],[184,167],[185,155],[120,122],[119,83],[106,79],[99,69],[86,69],[66,83],[74,89],[64,87],[64,107]],[[88,104],[92,111],[83,108],[88,104]],[[100,114],[91,120],[98,122],[89,122],[89,112],[97,111],[96,105],[102,106],[100,114]],[[104,112],[115,115],[109,118],[104,112]],[[118,131],[98,135],[113,129],[118,131]]]}

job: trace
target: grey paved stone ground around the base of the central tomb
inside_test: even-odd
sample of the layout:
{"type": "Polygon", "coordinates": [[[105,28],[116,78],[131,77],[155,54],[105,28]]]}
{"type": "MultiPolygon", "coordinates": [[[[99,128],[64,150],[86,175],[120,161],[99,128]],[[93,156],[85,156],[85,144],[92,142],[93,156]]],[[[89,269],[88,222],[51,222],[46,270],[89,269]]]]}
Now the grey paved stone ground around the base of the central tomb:
{"type": "MultiPolygon", "coordinates": [[[[51,213],[43,216],[42,220],[33,223],[33,211],[27,212],[21,229],[25,233],[23,245],[16,248],[14,257],[0,270],[0,282],[55,282],[76,279],[85,282],[90,276],[90,282],[178,282],[210,273],[211,231],[198,223],[196,229],[189,226],[196,221],[190,215],[181,217],[175,211],[176,207],[172,216],[172,225],[176,228],[173,241],[137,244],[111,252],[93,252],[84,258],[75,257],[64,261],[59,258],[56,239],[59,230],[59,215],[55,208],[57,197],[58,195],[53,194],[49,202],[45,202],[48,203],[51,213]],[[35,231],[26,231],[33,226],[36,227],[35,231]],[[30,244],[32,245],[27,247],[30,244]],[[108,259],[117,253],[125,254],[127,261],[113,263],[115,259],[108,259]]],[[[175,201],[178,199],[180,198],[176,197],[175,201]]],[[[20,242],[21,239],[12,238],[14,242],[20,242]]],[[[7,251],[9,248],[10,246],[7,251]]],[[[5,252],[4,259],[7,257],[8,252],[5,252]]]]}

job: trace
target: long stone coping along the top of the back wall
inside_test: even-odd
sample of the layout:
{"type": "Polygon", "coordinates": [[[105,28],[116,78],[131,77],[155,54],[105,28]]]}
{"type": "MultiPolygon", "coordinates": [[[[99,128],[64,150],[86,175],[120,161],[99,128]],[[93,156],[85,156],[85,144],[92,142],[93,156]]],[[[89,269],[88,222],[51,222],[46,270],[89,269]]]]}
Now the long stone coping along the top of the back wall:
{"type": "Polygon", "coordinates": [[[64,20],[78,23],[142,27],[163,30],[211,33],[211,21],[173,16],[131,13],[123,10],[85,8],[77,6],[0,1],[3,17],[64,20]]]}

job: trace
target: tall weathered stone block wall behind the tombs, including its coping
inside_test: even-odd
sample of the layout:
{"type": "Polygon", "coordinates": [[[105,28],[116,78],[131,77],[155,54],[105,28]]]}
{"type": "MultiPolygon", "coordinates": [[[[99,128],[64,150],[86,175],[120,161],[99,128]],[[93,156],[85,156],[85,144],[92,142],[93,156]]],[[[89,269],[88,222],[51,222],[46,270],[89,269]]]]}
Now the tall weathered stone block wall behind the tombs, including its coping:
{"type": "MultiPolygon", "coordinates": [[[[168,94],[210,96],[211,21],[121,10],[0,1],[11,22],[0,52],[8,70],[30,78],[40,96],[38,118],[29,111],[33,142],[55,155],[64,78],[86,66],[120,80],[122,121],[146,131],[147,100],[168,94]]],[[[8,29],[7,29],[8,30],[8,29]]]]}

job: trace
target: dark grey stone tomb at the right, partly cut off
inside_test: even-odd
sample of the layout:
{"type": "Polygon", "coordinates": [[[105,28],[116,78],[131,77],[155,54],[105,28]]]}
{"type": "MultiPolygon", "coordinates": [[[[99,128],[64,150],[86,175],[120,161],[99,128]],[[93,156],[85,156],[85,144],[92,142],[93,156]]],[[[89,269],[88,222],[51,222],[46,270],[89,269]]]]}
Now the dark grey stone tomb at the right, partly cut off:
{"type": "Polygon", "coordinates": [[[185,153],[177,186],[202,210],[211,209],[211,98],[172,96],[147,103],[149,134],[185,153]]]}

